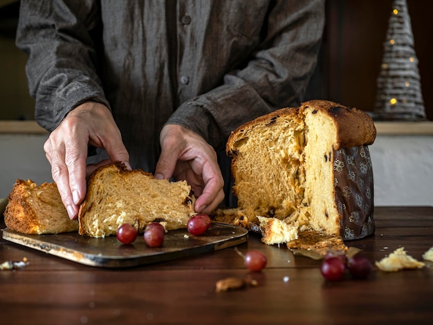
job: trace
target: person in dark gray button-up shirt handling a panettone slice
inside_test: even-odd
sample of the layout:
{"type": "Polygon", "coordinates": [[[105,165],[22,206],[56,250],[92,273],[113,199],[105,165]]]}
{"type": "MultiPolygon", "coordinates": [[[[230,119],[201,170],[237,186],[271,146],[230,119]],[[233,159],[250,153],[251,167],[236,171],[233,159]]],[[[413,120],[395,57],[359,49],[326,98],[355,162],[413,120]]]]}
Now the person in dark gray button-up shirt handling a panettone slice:
{"type": "Polygon", "coordinates": [[[323,0],[22,0],[17,46],[71,219],[110,160],[186,179],[214,210],[230,131],[299,106],[323,27],[323,0]]]}

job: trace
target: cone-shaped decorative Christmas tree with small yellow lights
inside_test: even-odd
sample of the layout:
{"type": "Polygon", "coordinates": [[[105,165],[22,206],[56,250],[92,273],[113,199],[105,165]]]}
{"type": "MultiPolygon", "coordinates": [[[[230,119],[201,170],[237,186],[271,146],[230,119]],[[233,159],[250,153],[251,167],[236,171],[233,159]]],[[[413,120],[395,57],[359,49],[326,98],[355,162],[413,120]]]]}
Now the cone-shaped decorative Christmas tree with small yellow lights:
{"type": "Polygon", "coordinates": [[[375,118],[425,120],[421,78],[406,0],[392,2],[377,79],[375,118]]]}

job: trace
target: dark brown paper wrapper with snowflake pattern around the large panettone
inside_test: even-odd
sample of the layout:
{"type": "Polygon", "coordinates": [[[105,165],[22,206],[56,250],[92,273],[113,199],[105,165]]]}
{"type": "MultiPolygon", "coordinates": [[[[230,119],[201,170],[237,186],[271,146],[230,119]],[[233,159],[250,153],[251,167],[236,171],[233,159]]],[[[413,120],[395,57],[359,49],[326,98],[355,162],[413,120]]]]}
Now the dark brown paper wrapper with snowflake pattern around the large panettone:
{"type": "Polygon", "coordinates": [[[343,240],[374,234],[373,168],[368,147],[334,151],[333,170],[343,240]]]}

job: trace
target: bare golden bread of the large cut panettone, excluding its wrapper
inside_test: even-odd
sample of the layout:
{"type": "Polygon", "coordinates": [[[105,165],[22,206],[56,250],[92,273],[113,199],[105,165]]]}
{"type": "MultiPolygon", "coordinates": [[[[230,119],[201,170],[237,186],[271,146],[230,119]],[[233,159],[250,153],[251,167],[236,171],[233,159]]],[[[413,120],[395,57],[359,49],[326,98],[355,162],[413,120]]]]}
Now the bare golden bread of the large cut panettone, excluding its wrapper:
{"type": "MultiPolygon", "coordinates": [[[[227,144],[238,214],[250,225],[260,224],[265,243],[293,241],[297,230],[340,236],[335,151],[369,145],[375,137],[374,123],[366,113],[320,100],[244,124],[232,132],[227,144]]],[[[223,219],[223,213],[215,215],[216,220],[223,219]]]]}

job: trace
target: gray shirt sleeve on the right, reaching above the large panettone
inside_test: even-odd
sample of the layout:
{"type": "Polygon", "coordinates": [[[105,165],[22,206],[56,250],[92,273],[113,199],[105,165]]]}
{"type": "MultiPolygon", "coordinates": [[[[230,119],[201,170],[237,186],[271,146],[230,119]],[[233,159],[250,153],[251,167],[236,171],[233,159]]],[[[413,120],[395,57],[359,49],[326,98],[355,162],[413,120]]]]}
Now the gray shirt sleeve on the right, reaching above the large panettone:
{"type": "Polygon", "coordinates": [[[199,133],[218,150],[239,125],[275,109],[299,106],[317,63],[324,1],[277,1],[266,37],[223,84],[183,102],[167,121],[199,133]]]}

